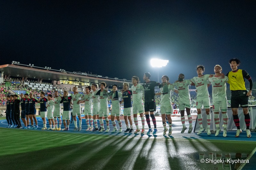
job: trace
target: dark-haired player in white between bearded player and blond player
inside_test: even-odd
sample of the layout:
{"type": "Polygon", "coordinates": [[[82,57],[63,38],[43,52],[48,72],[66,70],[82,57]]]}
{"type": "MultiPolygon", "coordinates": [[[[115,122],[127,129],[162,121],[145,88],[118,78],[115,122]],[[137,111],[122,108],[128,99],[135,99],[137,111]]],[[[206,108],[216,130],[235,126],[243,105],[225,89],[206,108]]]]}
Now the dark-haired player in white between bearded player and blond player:
{"type": "MultiPolygon", "coordinates": [[[[210,131],[210,125],[211,125],[211,114],[210,114],[210,97],[208,92],[208,79],[209,74],[204,73],[204,66],[198,65],[196,67],[197,77],[192,78],[190,81],[192,81],[197,90],[196,95],[196,110],[197,110],[197,120],[199,122],[200,130],[197,133],[197,135],[200,135],[202,132],[204,132],[203,128],[203,119],[201,115],[201,108],[204,106],[205,112],[207,114],[207,135],[211,135],[210,131]]],[[[193,85],[193,84],[191,84],[193,85]]],[[[210,85],[209,85],[210,86],[210,85]]]]}

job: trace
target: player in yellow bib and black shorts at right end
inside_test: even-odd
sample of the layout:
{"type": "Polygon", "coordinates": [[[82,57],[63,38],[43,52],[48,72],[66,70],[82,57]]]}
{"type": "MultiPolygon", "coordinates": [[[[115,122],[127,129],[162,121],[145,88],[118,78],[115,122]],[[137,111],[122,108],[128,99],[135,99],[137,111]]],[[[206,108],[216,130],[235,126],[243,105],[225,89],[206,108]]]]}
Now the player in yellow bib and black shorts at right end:
{"type": "Polygon", "coordinates": [[[250,132],[250,115],[248,114],[248,96],[252,96],[252,79],[251,76],[245,71],[240,70],[237,67],[240,65],[240,60],[233,58],[229,60],[230,67],[232,71],[228,72],[228,83],[230,84],[231,90],[231,109],[233,112],[233,120],[236,124],[236,137],[239,137],[242,130],[240,129],[240,120],[238,118],[238,107],[243,108],[244,121],[246,124],[246,134],[247,137],[251,137],[250,132]],[[244,80],[247,79],[250,83],[250,90],[247,92],[244,85],[244,80]]]}

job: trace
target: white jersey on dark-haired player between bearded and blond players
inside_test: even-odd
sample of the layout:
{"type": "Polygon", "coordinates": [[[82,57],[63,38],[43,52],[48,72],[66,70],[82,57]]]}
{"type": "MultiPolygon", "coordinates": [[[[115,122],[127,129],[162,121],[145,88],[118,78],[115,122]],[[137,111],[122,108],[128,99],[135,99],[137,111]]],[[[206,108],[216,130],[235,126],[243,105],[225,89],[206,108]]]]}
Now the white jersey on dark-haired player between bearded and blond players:
{"type": "Polygon", "coordinates": [[[196,85],[196,90],[197,90],[196,98],[209,97],[209,92],[207,87],[209,76],[210,74],[205,74],[202,77],[194,77],[190,80],[196,85]]]}

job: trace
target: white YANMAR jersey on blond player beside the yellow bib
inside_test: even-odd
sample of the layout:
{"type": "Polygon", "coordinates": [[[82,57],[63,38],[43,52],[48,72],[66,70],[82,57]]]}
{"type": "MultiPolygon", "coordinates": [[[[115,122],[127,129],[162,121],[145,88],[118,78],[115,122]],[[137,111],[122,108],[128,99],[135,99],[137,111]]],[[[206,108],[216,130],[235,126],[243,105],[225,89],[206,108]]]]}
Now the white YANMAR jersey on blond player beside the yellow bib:
{"type": "Polygon", "coordinates": [[[228,82],[227,76],[213,76],[209,78],[208,84],[212,84],[212,101],[223,101],[224,99],[227,100],[226,82],[228,82]]]}

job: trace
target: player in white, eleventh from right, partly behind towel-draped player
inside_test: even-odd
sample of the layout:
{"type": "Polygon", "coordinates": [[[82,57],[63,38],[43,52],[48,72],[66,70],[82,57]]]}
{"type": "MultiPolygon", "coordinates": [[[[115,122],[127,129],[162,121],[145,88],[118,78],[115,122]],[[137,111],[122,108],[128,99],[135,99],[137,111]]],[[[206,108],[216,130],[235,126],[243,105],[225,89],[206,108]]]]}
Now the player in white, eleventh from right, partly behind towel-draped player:
{"type": "Polygon", "coordinates": [[[95,128],[93,129],[93,132],[99,130],[98,128],[98,122],[97,118],[99,118],[99,111],[100,111],[100,99],[99,95],[96,95],[97,93],[97,84],[92,84],[92,115],[93,115],[93,123],[95,128]],[[96,118],[97,117],[97,118],[96,118]]]}

